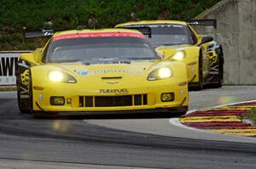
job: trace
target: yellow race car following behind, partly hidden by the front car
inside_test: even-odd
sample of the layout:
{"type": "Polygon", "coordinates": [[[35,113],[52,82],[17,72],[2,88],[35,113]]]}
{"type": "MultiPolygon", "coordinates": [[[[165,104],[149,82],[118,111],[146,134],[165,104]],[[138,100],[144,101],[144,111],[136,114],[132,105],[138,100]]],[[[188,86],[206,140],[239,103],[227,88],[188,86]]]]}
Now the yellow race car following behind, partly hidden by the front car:
{"type": "Polygon", "coordinates": [[[172,60],[187,65],[189,87],[200,90],[203,85],[221,87],[224,73],[224,54],[221,45],[212,37],[199,35],[190,25],[214,25],[216,20],[144,20],[116,25],[136,29],[147,35],[148,41],[160,54],[174,51],[172,60]]]}

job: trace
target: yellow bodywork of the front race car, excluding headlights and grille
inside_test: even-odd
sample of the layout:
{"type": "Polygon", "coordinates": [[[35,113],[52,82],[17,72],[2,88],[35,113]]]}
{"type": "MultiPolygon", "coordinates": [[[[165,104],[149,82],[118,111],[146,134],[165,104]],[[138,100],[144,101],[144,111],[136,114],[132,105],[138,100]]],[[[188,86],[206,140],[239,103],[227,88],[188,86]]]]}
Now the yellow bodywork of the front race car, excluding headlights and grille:
{"type": "MultiPolygon", "coordinates": [[[[55,36],[77,32],[137,32],[127,29],[73,30],[55,33],[55,36]]],[[[125,37],[124,37],[125,38],[125,37]]],[[[32,110],[45,112],[105,112],[119,110],[152,110],[187,107],[189,103],[186,66],[180,61],[167,59],[131,60],[131,64],[83,65],[73,63],[44,63],[42,56],[45,48],[31,54],[22,54],[31,65],[32,110]],[[172,77],[148,81],[153,70],[167,66],[172,69],[172,77]],[[61,70],[73,76],[77,82],[64,83],[49,80],[49,71],[61,70]],[[84,72],[83,75],[79,72],[84,72]],[[119,77],[119,78],[110,78],[119,77]],[[173,101],[161,101],[162,93],[174,93],[173,101]],[[142,95],[142,104],[135,105],[136,95],[142,95]],[[143,99],[147,95],[147,100],[143,99]],[[50,97],[64,97],[65,104],[52,105],[50,97]],[[96,97],[131,96],[131,105],[96,106],[96,97]],[[92,106],[85,106],[85,97],[92,97],[92,106]]],[[[23,72],[20,72],[23,73],[23,72]]],[[[21,74],[23,76],[24,74],[21,74]]],[[[26,75],[28,75],[26,73],[26,75]]]]}

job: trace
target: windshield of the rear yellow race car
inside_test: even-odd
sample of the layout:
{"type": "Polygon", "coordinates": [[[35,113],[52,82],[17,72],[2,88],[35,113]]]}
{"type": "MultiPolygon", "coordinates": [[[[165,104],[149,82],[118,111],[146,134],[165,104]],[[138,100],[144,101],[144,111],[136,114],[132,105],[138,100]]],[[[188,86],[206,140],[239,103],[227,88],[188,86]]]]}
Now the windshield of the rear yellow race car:
{"type": "Polygon", "coordinates": [[[185,25],[150,25],[151,37],[148,41],[154,47],[161,45],[192,44],[185,25]]]}

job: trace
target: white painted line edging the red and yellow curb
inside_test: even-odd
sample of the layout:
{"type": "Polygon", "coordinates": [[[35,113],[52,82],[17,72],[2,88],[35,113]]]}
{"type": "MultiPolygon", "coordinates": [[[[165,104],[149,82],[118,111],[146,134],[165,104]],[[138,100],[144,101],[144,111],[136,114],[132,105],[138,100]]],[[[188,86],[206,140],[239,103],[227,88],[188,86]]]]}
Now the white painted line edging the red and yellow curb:
{"type": "MultiPolygon", "coordinates": [[[[218,105],[218,106],[212,106],[212,107],[208,107],[208,108],[203,108],[201,110],[207,110],[207,109],[212,109],[212,108],[219,108],[219,107],[224,107],[224,106],[228,106],[228,105],[234,105],[234,104],[247,104],[247,103],[252,103],[252,102],[256,102],[256,100],[249,100],[249,101],[242,101],[242,102],[236,102],[236,103],[232,103],[232,104],[222,104],[222,105],[218,105]]],[[[189,110],[186,115],[189,115],[195,111],[198,111],[198,110],[189,110]]],[[[184,128],[184,129],[187,129],[187,130],[194,130],[194,131],[197,131],[197,132],[209,132],[209,131],[206,131],[206,130],[203,130],[203,129],[198,129],[198,128],[194,128],[194,127],[187,127],[185,125],[183,125],[179,120],[178,118],[171,118],[169,119],[169,122],[175,126],[175,127],[181,127],[181,128],[184,128]]],[[[217,133],[217,132],[211,132],[211,133],[217,133]]]]}

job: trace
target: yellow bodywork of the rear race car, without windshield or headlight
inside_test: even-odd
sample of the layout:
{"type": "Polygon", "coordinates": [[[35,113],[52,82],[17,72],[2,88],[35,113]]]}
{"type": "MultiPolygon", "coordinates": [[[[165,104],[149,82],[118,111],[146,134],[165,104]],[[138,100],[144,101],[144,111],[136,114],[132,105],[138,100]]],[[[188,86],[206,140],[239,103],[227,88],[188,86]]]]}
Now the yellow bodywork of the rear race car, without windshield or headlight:
{"type": "MultiPolygon", "coordinates": [[[[116,25],[115,27],[125,27],[125,26],[131,26],[131,25],[167,25],[167,24],[175,24],[175,25],[187,25],[191,31],[194,32],[195,37],[197,39],[197,42],[193,45],[172,45],[172,46],[160,46],[155,48],[155,50],[160,53],[164,54],[164,52],[167,50],[184,50],[186,53],[186,57],[184,59],[180,59],[180,61],[183,61],[187,66],[187,76],[188,76],[188,82],[194,83],[199,82],[199,59],[201,54],[201,63],[202,63],[202,76],[205,79],[210,74],[210,68],[211,65],[216,64],[218,60],[218,54],[214,50],[207,51],[207,47],[215,42],[207,42],[201,43],[202,37],[205,37],[204,35],[197,34],[194,29],[188,25],[184,21],[178,21],[178,20],[142,20],[142,21],[133,21],[133,22],[126,22],[123,24],[116,25]]],[[[172,60],[172,58],[170,58],[172,60]]]]}

